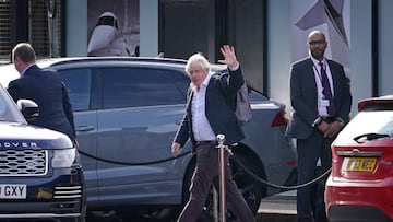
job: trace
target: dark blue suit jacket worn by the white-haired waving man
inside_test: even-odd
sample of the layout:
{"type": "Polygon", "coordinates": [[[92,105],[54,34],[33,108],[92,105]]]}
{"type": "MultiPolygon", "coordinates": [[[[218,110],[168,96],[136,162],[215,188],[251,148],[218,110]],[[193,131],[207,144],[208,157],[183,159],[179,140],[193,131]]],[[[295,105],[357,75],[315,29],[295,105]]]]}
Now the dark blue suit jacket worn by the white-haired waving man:
{"type": "MultiPolygon", "coordinates": [[[[230,71],[228,74],[214,74],[206,87],[205,114],[215,136],[225,135],[226,144],[239,142],[245,133],[235,116],[234,107],[228,103],[228,97],[235,97],[236,92],[243,84],[245,79],[241,69],[230,71]],[[229,78],[229,81],[227,81],[229,78]]],[[[193,148],[195,140],[192,132],[191,100],[192,90],[189,89],[187,97],[187,110],[181,125],[175,136],[175,142],[184,145],[191,138],[193,148]]]]}

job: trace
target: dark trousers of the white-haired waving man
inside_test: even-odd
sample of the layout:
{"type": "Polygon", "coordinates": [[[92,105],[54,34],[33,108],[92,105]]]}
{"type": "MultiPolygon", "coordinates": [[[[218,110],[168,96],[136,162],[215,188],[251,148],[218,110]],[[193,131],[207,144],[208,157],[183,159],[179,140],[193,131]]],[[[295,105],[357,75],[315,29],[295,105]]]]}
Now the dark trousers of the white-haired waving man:
{"type": "MultiPolygon", "coordinates": [[[[218,149],[214,144],[196,147],[196,167],[190,186],[190,198],[180,213],[178,222],[194,222],[202,213],[213,179],[218,176],[218,149]]],[[[228,160],[228,153],[225,152],[226,201],[238,221],[253,222],[255,219],[231,178],[228,160]]]]}

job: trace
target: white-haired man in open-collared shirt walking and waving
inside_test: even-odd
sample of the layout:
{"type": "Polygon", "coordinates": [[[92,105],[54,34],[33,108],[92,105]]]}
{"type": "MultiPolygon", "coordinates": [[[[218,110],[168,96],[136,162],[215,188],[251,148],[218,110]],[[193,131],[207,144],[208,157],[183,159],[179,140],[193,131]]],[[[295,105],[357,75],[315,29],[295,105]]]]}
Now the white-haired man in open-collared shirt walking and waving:
{"type": "MultiPolygon", "coordinates": [[[[186,66],[191,78],[187,110],[175,136],[171,152],[177,156],[180,147],[191,138],[193,151],[196,152],[196,167],[190,186],[190,198],[178,219],[179,222],[196,221],[213,179],[218,176],[216,136],[225,135],[228,145],[245,138],[234,108],[227,103],[227,97],[235,96],[245,80],[234,47],[225,45],[221,51],[224,60],[218,62],[228,66],[229,75],[211,73],[210,63],[201,54],[191,56],[186,66]]],[[[231,179],[228,159],[226,152],[225,184],[228,207],[239,221],[252,222],[254,217],[231,179]]]]}

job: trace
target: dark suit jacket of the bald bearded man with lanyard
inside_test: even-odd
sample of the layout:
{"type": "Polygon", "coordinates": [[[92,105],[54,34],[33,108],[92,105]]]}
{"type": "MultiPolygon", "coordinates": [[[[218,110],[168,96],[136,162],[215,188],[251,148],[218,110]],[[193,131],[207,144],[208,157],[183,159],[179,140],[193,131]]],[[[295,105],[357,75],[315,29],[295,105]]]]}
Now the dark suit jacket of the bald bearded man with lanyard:
{"type": "MultiPolygon", "coordinates": [[[[334,89],[335,114],[333,117],[340,117],[347,122],[352,106],[349,80],[341,63],[333,60],[327,60],[327,63],[334,89]]],[[[318,118],[318,92],[311,58],[291,65],[290,102],[295,110],[287,128],[287,136],[306,139],[314,130],[312,124],[318,118]]]]}

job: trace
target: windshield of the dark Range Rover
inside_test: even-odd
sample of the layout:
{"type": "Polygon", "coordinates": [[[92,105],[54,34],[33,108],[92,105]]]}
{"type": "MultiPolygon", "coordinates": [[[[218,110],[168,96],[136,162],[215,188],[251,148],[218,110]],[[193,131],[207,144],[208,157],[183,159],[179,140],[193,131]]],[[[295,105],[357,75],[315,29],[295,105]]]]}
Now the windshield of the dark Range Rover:
{"type": "Polygon", "coordinates": [[[0,86],[0,121],[17,121],[26,124],[26,120],[17,109],[11,96],[0,86]]]}

